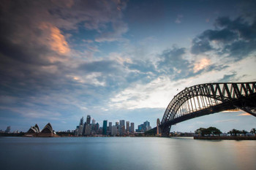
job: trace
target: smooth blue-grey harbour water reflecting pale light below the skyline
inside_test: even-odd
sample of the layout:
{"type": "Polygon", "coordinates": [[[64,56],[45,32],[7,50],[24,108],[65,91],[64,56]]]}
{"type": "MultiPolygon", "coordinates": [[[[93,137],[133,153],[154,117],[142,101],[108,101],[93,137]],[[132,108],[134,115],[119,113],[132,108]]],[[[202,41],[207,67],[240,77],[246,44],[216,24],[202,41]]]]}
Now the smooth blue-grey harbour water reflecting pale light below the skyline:
{"type": "Polygon", "coordinates": [[[255,141],[0,138],[0,169],[256,169],[255,141]]]}

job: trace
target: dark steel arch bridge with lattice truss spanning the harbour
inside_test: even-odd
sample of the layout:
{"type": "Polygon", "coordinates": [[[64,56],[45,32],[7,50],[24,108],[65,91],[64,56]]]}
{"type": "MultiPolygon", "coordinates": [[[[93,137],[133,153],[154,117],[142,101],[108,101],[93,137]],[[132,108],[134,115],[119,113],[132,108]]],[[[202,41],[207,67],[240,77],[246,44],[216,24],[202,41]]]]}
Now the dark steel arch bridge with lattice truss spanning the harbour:
{"type": "Polygon", "coordinates": [[[170,101],[161,123],[162,136],[170,127],[195,117],[241,109],[256,117],[256,82],[206,83],[185,88],[170,101]]]}

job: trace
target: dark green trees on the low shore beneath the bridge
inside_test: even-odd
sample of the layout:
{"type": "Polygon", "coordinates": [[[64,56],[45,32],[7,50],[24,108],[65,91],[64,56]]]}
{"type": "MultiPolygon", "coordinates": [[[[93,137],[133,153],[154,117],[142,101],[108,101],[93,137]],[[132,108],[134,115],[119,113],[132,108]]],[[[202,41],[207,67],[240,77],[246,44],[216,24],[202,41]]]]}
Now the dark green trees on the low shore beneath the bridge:
{"type": "MultiPolygon", "coordinates": [[[[249,132],[245,130],[239,131],[235,128],[227,132],[227,134],[230,134],[231,136],[238,136],[238,134],[239,135],[243,134],[244,136],[246,136],[247,133],[249,132]]],[[[252,128],[250,133],[256,135],[256,129],[252,128]]],[[[220,131],[218,128],[215,128],[215,127],[197,128],[197,130],[195,131],[195,134],[201,135],[201,136],[220,136],[220,134],[222,134],[222,131],[220,131]]]]}

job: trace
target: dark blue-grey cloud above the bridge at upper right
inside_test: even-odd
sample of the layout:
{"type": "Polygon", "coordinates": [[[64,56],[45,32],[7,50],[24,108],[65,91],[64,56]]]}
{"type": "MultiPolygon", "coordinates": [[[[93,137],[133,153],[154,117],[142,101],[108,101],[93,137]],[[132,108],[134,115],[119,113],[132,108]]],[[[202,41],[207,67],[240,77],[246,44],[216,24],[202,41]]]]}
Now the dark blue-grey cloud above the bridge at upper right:
{"type": "Polygon", "coordinates": [[[246,58],[256,50],[256,20],[251,23],[244,18],[217,18],[215,30],[203,31],[192,41],[191,53],[214,52],[227,55],[233,61],[246,58]],[[214,47],[213,44],[219,47],[214,47]]]}

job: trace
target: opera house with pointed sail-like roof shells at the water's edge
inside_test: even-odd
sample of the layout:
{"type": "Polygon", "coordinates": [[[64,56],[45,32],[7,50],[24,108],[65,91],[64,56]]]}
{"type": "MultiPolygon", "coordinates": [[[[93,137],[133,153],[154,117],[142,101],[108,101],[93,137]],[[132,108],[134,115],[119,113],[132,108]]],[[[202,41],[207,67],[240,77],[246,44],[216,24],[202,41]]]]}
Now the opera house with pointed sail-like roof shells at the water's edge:
{"type": "Polygon", "coordinates": [[[39,126],[36,124],[34,126],[31,126],[29,128],[29,131],[25,134],[25,136],[31,136],[31,137],[54,137],[57,136],[55,131],[53,131],[53,127],[48,123],[45,125],[45,128],[42,129],[42,131],[39,131],[39,126]]]}

